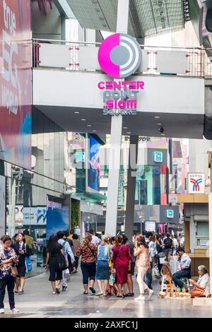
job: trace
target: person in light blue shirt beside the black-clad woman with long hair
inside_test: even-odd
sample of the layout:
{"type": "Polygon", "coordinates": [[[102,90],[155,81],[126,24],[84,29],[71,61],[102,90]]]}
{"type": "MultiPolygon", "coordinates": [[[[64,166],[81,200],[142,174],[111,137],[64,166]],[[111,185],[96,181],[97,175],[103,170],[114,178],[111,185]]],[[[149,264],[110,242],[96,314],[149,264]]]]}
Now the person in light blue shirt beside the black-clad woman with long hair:
{"type": "MultiPolygon", "coordinates": [[[[69,275],[69,261],[71,264],[71,270],[72,270],[72,265],[75,261],[74,256],[73,256],[73,251],[71,250],[69,242],[66,241],[66,233],[59,231],[57,232],[57,239],[59,244],[63,247],[64,250],[64,255],[66,257],[66,263],[67,263],[67,268],[66,270],[62,271],[62,291],[65,292],[68,285],[67,285],[67,278],[66,275],[69,275]]],[[[71,240],[72,242],[72,240],[71,240]]],[[[59,283],[57,283],[57,287],[59,287],[59,283]]]]}

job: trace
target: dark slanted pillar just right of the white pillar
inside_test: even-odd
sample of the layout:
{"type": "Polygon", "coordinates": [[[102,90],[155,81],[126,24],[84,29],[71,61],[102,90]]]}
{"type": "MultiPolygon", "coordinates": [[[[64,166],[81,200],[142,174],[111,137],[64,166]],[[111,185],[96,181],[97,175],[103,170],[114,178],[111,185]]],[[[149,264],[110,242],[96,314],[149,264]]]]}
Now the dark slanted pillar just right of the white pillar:
{"type": "Polygon", "coordinates": [[[136,191],[136,167],[139,148],[139,136],[130,136],[129,167],[127,175],[125,234],[131,239],[134,230],[134,210],[136,191]]]}

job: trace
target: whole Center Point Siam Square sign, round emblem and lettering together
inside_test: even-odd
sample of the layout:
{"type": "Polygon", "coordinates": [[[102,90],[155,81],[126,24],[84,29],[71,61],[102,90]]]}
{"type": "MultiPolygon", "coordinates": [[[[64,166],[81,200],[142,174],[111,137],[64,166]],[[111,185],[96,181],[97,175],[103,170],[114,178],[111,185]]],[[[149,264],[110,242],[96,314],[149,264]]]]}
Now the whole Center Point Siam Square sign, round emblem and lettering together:
{"type": "MultiPolygon", "coordinates": [[[[141,47],[134,37],[116,33],[100,45],[98,61],[113,78],[131,76],[141,65],[141,47]]],[[[98,83],[103,91],[103,115],[135,115],[136,97],[144,88],[143,81],[107,81],[98,83]]]]}

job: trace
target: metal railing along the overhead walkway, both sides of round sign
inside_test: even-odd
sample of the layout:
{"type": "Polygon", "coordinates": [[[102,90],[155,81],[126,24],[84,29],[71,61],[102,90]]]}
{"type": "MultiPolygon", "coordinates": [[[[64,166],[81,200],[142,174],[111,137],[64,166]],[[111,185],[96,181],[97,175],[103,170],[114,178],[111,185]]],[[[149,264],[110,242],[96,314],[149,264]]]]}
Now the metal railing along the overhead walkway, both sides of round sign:
{"type": "MultiPolygon", "coordinates": [[[[58,66],[57,68],[69,70],[69,71],[81,71],[81,64],[79,63],[78,53],[81,47],[99,47],[100,43],[98,42],[69,42],[65,40],[33,40],[33,68],[44,68],[40,63],[40,47],[43,44],[51,45],[66,45],[69,48],[69,63],[64,68],[63,66],[58,66]]],[[[143,75],[160,75],[160,74],[169,74],[169,75],[178,75],[178,76],[187,76],[187,77],[205,77],[212,76],[212,63],[208,58],[207,52],[212,49],[204,49],[201,47],[155,47],[155,46],[146,46],[140,45],[143,50],[144,55],[148,55],[148,66],[146,69],[139,69],[136,73],[142,73],[143,75]],[[157,66],[158,56],[161,58],[164,52],[170,52],[170,56],[177,56],[177,54],[182,53],[182,56],[187,58],[186,69],[182,72],[174,71],[160,71],[160,68],[157,66]],[[183,55],[184,54],[184,55],[183,55]]],[[[62,51],[61,51],[62,52],[62,51]]],[[[176,58],[177,59],[177,58],[176,58]]],[[[180,65],[180,64],[179,64],[180,65]]],[[[49,68],[49,66],[47,66],[49,68]]],[[[83,69],[83,71],[93,71],[91,68],[83,69]]],[[[96,69],[95,71],[101,71],[96,69]]]]}

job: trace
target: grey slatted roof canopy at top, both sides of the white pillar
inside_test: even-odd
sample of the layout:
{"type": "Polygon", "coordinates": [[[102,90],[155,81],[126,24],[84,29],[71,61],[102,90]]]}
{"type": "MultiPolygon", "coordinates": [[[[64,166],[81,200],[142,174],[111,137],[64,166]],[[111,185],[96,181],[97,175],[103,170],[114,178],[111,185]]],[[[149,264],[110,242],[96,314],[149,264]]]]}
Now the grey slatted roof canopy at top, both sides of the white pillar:
{"type": "MultiPolygon", "coordinates": [[[[82,28],[116,32],[117,0],[66,0],[82,28]]],[[[153,37],[184,28],[187,0],[130,0],[129,34],[153,37]]]]}

